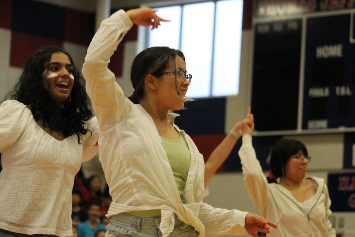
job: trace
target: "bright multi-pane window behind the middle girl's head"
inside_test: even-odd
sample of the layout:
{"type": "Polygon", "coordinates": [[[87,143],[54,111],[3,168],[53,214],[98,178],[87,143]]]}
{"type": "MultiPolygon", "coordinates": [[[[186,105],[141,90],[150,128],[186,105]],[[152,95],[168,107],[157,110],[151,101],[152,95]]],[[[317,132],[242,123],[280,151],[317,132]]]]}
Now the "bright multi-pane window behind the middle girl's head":
{"type": "Polygon", "coordinates": [[[186,56],[190,98],[237,95],[243,0],[157,7],[162,22],[147,31],[147,48],[168,46],[186,56]]]}

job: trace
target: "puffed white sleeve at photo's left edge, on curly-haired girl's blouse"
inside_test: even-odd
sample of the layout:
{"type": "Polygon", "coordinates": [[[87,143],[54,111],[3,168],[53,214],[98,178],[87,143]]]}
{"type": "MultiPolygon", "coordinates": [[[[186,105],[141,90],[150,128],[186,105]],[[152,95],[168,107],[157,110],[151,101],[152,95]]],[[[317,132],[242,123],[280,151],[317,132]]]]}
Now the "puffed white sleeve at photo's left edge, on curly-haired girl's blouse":
{"type": "Polygon", "coordinates": [[[31,111],[15,100],[4,101],[0,106],[0,152],[11,146],[33,119],[31,111]]]}

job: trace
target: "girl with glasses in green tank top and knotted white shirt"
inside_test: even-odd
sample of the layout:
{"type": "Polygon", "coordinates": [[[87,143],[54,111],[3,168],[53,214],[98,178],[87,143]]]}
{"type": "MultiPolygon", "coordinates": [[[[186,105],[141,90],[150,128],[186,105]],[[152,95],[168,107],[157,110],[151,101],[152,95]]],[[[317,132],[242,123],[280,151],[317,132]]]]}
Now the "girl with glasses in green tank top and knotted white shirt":
{"type": "Polygon", "coordinates": [[[180,50],[152,47],[133,60],[133,95],[125,98],[107,66],[133,26],[166,21],[149,8],[119,10],[101,23],[89,45],[83,75],[100,127],[100,161],[113,202],[108,237],[222,236],[269,232],[258,215],[202,202],[204,161],[174,124],[192,76],[180,50]]]}

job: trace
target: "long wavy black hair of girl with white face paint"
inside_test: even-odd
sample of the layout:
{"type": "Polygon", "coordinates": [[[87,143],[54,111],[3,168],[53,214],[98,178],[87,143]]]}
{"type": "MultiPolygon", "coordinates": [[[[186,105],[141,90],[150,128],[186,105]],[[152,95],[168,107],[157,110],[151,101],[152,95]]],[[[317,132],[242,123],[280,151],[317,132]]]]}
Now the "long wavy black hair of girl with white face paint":
{"type": "Polygon", "coordinates": [[[75,67],[71,56],[58,47],[45,47],[29,57],[20,80],[6,98],[29,105],[34,120],[36,122],[42,120],[45,127],[54,131],[63,131],[65,137],[76,134],[79,144],[81,144],[80,134],[85,135],[89,131],[84,128],[84,122],[92,118],[93,114],[85,92],[83,77],[75,67]],[[70,97],[60,108],[44,87],[42,77],[54,53],[64,53],[68,56],[75,78],[70,97]]]}

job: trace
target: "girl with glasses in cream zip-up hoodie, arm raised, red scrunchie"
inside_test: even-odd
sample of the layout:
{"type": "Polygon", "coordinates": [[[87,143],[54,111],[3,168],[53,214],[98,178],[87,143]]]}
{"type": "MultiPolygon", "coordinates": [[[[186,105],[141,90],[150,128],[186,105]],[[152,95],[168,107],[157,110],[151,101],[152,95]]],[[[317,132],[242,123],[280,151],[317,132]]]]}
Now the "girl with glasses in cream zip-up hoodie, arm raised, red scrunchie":
{"type": "Polygon", "coordinates": [[[239,156],[254,205],[263,217],[278,225],[267,236],[335,237],[328,219],[332,212],[327,185],[322,178],[306,177],[310,161],[306,146],[293,139],[276,142],[266,178],[252,147],[253,128],[253,119],[245,119],[239,156]]]}

